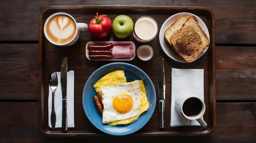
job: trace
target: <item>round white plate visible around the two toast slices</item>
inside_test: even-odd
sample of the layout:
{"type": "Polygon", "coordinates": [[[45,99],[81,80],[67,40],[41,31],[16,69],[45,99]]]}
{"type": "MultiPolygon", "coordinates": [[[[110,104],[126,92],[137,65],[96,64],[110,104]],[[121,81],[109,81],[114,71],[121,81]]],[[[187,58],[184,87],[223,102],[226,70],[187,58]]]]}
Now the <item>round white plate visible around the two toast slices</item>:
{"type": "MultiPolygon", "coordinates": [[[[198,20],[198,24],[201,26],[202,30],[204,30],[205,34],[207,35],[208,39],[210,39],[209,36],[209,31],[207,29],[207,26],[204,24],[204,22],[196,15],[192,14],[192,13],[177,13],[175,15],[172,15],[171,17],[169,17],[164,24],[162,25],[160,32],[159,32],[159,42],[160,45],[164,51],[164,53],[170,57],[171,59],[177,61],[177,62],[181,62],[181,63],[186,63],[186,61],[184,61],[180,56],[177,56],[175,53],[173,53],[171,51],[171,49],[168,47],[168,45],[165,43],[164,41],[164,32],[165,30],[170,27],[179,17],[181,17],[182,15],[186,15],[186,16],[195,16],[196,19],[198,20]]],[[[209,46],[208,46],[209,47],[209,46]]],[[[195,59],[197,60],[198,58],[200,58],[208,49],[208,47],[204,50],[204,52],[202,52],[201,54],[198,55],[198,57],[195,59]]]]}

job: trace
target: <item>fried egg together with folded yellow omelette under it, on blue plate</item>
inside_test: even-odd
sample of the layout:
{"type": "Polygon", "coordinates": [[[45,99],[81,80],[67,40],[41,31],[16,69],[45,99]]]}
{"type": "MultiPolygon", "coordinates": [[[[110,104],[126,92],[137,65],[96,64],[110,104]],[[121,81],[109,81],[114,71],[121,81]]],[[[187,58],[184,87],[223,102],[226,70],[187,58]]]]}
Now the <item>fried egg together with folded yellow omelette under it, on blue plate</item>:
{"type": "Polygon", "coordinates": [[[105,122],[106,124],[109,124],[111,126],[116,126],[120,124],[122,125],[131,124],[138,119],[141,113],[147,111],[149,108],[149,102],[147,100],[146,90],[144,87],[143,80],[126,82],[126,77],[124,75],[123,70],[117,70],[117,71],[108,73],[107,75],[105,75],[103,78],[101,78],[95,83],[94,89],[97,92],[103,93],[103,96],[102,96],[104,100],[103,123],[105,122]],[[137,83],[137,84],[134,86],[134,83],[137,83]],[[104,94],[101,91],[101,87],[103,88],[104,93],[106,92],[109,95],[104,94]],[[134,88],[134,87],[137,87],[137,88],[134,88]],[[118,88],[121,88],[123,91],[127,91],[127,92],[120,92],[121,89],[119,90],[118,88]],[[115,95],[112,91],[116,92],[115,95]],[[139,96],[137,95],[138,92],[139,92],[139,96]],[[137,99],[136,98],[134,99],[134,97],[137,97],[137,99]],[[108,101],[108,102],[105,102],[105,101],[108,101]],[[139,104],[139,107],[138,107],[138,104],[139,104]],[[107,110],[107,109],[110,109],[110,110],[107,110]],[[115,117],[115,115],[118,115],[118,117],[115,117]],[[126,117],[122,117],[121,115],[125,115],[126,117]]]}

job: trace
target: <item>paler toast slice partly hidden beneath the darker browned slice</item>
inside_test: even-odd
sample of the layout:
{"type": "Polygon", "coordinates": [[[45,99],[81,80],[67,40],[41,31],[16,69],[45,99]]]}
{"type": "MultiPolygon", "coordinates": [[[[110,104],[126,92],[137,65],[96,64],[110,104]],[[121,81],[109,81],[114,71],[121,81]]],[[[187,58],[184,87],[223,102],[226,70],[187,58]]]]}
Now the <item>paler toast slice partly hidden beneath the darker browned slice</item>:
{"type": "Polygon", "coordinates": [[[171,37],[173,36],[173,34],[175,32],[180,30],[180,28],[182,27],[182,25],[184,24],[184,22],[187,19],[188,19],[188,17],[186,15],[182,15],[170,27],[168,27],[165,30],[165,32],[164,32],[164,41],[169,46],[169,48],[171,48],[171,50],[172,50],[172,45],[171,45],[171,41],[170,41],[171,37]]]}

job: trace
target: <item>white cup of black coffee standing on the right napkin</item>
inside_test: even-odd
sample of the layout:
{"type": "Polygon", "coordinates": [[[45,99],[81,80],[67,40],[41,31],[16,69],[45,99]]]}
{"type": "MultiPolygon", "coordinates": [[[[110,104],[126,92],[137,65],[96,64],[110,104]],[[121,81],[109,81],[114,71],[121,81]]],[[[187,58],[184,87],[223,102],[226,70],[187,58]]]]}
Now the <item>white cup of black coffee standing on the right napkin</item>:
{"type": "Polygon", "coordinates": [[[197,120],[204,128],[207,123],[201,118],[205,112],[204,102],[193,93],[181,93],[175,99],[177,112],[189,120],[197,120]]]}

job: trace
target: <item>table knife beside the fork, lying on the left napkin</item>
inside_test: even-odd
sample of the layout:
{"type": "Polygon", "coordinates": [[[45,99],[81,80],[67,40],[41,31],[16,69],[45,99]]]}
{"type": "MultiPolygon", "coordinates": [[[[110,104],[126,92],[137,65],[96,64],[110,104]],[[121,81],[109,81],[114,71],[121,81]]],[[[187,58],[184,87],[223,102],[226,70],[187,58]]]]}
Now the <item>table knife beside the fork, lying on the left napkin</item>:
{"type": "Polygon", "coordinates": [[[67,56],[61,63],[62,131],[67,131],[67,56]]]}

